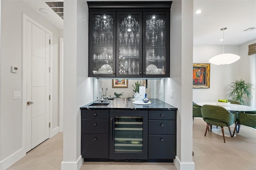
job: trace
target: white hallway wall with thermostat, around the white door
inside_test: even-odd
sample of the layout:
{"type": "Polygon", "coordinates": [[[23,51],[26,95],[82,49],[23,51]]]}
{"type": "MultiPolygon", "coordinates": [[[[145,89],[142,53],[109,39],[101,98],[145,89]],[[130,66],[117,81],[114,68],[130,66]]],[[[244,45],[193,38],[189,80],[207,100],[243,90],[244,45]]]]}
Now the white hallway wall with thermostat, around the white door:
{"type": "MultiPolygon", "coordinates": [[[[13,91],[22,90],[22,13],[53,33],[53,78],[58,77],[58,37],[60,30],[22,0],[2,0],[1,21],[1,119],[0,163],[5,169],[26,153],[22,148],[22,100],[12,99],[13,91]],[[18,73],[10,67],[17,66],[18,73]],[[22,152],[22,153],[21,153],[22,152]],[[18,156],[17,156],[18,155],[18,156]]],[[[53,82],[53,122],[58,126],[58,79],[53,82]],[[57,91],[57,93],[56,93],[57,91]]]]}

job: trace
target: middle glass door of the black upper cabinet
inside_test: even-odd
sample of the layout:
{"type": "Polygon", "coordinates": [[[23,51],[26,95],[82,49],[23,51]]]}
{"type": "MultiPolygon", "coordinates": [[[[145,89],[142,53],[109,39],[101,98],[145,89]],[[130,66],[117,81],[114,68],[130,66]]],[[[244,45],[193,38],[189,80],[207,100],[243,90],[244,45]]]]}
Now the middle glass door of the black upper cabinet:
{"type": "Polygon", "coordinates": [[[116,74],[142,75],[142,12],[118,12],[116,24],[116,74]]]}

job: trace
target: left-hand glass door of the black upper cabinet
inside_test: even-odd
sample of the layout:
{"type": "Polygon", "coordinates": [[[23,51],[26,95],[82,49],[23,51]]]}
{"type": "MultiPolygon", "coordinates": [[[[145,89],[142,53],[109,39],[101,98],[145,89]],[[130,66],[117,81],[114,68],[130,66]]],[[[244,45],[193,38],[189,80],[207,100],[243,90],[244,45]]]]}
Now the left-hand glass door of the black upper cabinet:
{"type": "Polygon", "coordinates": [[[90,76],[112,77],[115,74],[115,15],[92,12],[90,20],[93,23],[89,29],[90,76]]]}

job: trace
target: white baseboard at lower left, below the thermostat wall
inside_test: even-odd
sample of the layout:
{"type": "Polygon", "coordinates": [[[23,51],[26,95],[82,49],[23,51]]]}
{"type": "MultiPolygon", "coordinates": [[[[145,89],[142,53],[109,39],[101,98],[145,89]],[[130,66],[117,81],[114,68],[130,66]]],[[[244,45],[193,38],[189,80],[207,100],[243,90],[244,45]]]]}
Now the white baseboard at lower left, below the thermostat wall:
{"type": "Polygon", "coordinates": [[[15,162],[20,160],[23,156],[26,155],[26,150],[25,149],[20,149],[14,154],[8,156],[4,160],[0,161],[0,170],[6,170],[10,166],[12,166],[15,162]]]}

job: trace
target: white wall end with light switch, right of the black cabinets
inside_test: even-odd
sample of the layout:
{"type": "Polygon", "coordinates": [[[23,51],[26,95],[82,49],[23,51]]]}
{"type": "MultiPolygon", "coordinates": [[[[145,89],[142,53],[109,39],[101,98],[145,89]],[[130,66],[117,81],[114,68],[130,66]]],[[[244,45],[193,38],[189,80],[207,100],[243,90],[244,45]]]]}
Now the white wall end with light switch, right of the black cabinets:
{"type": "Polygon", "coordinates": [[[174,164],[193,170],[192,161],[192,58],[193,0],[173,0],[171,9],[170,78],[165,80],[165,102],[178,108],[174,164]],[[173,90],[173,98],[170,98],[173,90]],[[191,107],[189,107],[191,106],[191,107]]]}

